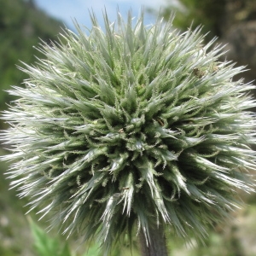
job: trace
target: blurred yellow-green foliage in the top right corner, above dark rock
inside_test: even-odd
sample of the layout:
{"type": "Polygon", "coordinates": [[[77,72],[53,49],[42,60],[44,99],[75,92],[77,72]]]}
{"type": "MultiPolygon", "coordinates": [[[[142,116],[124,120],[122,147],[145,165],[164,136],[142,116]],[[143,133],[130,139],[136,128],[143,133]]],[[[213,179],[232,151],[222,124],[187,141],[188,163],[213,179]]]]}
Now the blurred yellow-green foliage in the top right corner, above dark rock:
{"type": "MultiPolygon", "coordinates": [[[[153,9],[151,12],[155,12],[153,9]]],[[[176,13],[173,25],[187,29],[189,26],[203,26],[202,33],[207,39],[222,38],[229,26],[246,20],[256,20],[256,1],[254,0],[166,0],[166,8],[161,15],[167,20],[176,13]]]]}

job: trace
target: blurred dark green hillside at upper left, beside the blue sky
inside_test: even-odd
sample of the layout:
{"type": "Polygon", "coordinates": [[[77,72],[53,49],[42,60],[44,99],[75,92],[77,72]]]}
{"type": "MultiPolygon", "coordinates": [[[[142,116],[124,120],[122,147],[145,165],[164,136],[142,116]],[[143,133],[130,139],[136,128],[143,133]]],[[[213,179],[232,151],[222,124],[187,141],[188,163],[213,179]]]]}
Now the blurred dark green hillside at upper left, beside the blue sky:
{"type": "MultiPolygon", "coordinates": [[[[22,66],[20,61],[32,63],[35,54],[40,53],[33,46],[38,46],[40,38],[46,42],[56,40],[61,32],[61,23],[49,18],[37,9],[32,1],[0,0],[0,110],[12,98],[3,90],[10,85],[21,84],[26,74],[16,67],[22,66]]],[[[0,123],[3,129],[3,122],[0,123]]]]}

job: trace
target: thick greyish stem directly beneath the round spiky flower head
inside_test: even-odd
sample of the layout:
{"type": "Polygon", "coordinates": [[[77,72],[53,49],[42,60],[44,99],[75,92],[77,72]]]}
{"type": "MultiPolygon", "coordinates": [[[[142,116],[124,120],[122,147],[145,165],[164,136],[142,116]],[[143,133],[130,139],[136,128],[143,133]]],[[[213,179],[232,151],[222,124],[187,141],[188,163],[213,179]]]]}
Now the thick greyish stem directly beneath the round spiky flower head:
{"type": "Polygon", "coordinates": [[[162,225],[155,225],[148,230],[150,241],[146,241],[143,230],[139,233],[140,249],[142,256],[168,256],[166,236],[162,225]]]}

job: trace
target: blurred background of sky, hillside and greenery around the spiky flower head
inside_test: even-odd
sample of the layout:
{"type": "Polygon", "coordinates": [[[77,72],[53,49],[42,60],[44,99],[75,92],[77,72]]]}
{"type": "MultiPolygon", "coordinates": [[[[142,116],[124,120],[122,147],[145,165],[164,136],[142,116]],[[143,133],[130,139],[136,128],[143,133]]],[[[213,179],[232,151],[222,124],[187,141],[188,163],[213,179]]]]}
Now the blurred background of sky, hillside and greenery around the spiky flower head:
{"type": "MultiPolygon", "coordinates": [[[[93,3],[88,2],[86,0],[0,0],[1,111],[13,100],[5,90],[8,90],[10,85],[22,86],[23,79],[26,79],[26,74],[21,73],[17,68],[22,66],[20,61],[34,63],[35,55],[42,57],[33,46],[38,46],[40,39],[49,43],[51,40],[57,40],[58,33],[62,31],[61,27],[75,31],[73,20],[90,28],[89,11],[91,9],[96,13],[101,25],[103,9],[107,9],[110,20],[114,21],[117,7],[123,16],[129,9],[132,9],[133,15],[137,16],[144,6],[145,25],[154,23],[159,11],[165,19],[175,11],[174,26],[183,31],[191,26],[192,21],[193,28],[202,24],[202,33],[208,32],[205,38],[206,43],[213,37],[218,37],[218,44],[227,44],[225,49],[228,52],[223,58],[235,61],[238,66],[247,66],[247,72],[242,74],[245,82],[256,79],[256,0],[94,0],[93,3]]],[[[253,94],[255,96],[254,91],[253,94]]],[[[7,127],[8,125],[0,121],[0,130],[7,127]]],[[[8,154],[4,145],[1,144],[0,154],[8,154]]],[[[29,218],[37,219],[37,216],[35,212],[32,212],[29,218],[25,216],[26,200],[20,200],[15,190],[9,190],[9,180],[6,180],[3,174],[6,168],[7,164],[1,162],[0,255],[38,255],[29,221],[29,218]]],[[[241,198],[245,201],[245,207],[232,212],[233,221],[226,225],[217,225],[210,230],[207,247],[196,245],[188,247],[182,240],[169,234],[167,242],[171,255],[256,255],[256,195],[241,195],[241,198]]],[[[44,221],[40,225],[43,228],[47,226],[44,221]]],[[[55,232],[50,233],[49,236],[55,236],[55,232]]],[[[65,240],[61,236],[56,239],[65,240]]],[[[73,249],[73,241],[70,243],[73,249]]],[[[119,252],[115,252],[114,255],[123,256],[126,255],[125,252],[124,245],[124,249],[119,249],[119,252]]],[[[127,255],[130,254],[128,250],[127,255]]],[[[96,253],[91,255],[97,256],[96,253]]]]}

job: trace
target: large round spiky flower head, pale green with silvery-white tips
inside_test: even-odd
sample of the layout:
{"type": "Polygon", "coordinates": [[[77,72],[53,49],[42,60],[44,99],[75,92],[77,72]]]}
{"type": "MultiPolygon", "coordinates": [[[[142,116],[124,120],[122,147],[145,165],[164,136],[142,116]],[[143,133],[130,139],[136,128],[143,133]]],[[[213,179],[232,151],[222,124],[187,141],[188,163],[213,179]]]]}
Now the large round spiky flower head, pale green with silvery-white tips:
{"type": "Polygon", "coordinates": [[[256,106],[243,71],[218,61],[200,28],[143,25],[118,14],[104,30],[91,15],[61,43],[42,44],[26,87],[3,114],[13,146],[12,187],[63,233],[113,242],[165,224],[201,239],[207,225],[236,206],[236,189],[253,191],[256,106]]]}

